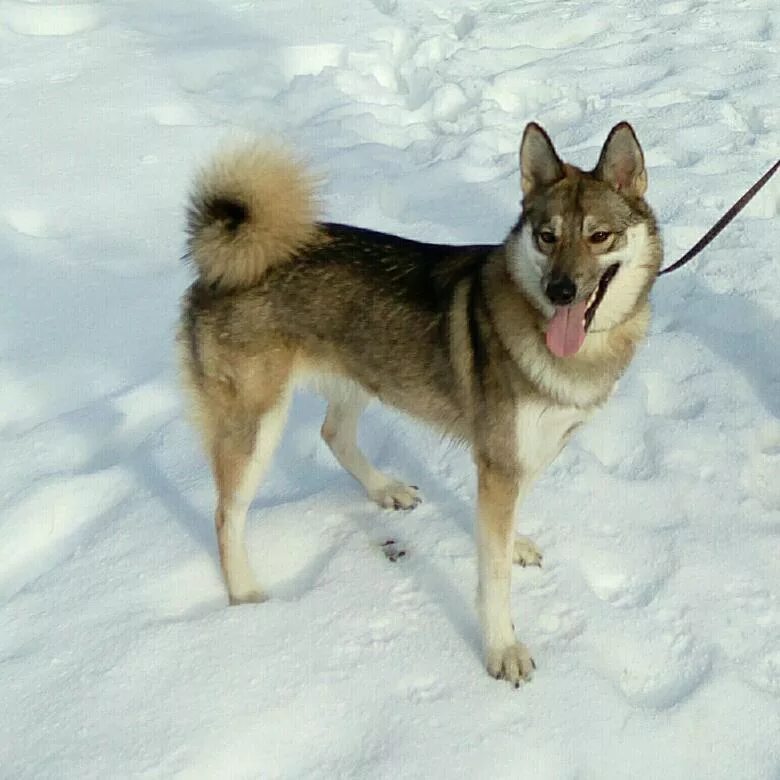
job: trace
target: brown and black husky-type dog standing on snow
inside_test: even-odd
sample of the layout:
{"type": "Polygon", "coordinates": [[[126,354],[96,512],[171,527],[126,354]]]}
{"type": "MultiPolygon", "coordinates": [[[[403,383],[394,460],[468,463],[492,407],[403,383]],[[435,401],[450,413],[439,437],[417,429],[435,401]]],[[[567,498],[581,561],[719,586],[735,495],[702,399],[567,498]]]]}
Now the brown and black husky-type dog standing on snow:
{"type": "Polygon", "coordinates": [[[216,481],[231,604],[265,598],[244,543],[247,509],[292,388],[314,376],[328,401],[323,439],[380,506],[411,509],[420,497],[358,449],[371,398],[471,446],[487,669],[515,686],[530,679],[511,572],[542,556],[515,536],[518,499],[606,401],[645,336],[661,246],[629,124],[612,129],[585,172],[531,123],[520,170],[522,213],[496,246],[318,222],[308,174],[259,146],[201,173],[188,211],[198,279],[178,341],[216,481]]]}

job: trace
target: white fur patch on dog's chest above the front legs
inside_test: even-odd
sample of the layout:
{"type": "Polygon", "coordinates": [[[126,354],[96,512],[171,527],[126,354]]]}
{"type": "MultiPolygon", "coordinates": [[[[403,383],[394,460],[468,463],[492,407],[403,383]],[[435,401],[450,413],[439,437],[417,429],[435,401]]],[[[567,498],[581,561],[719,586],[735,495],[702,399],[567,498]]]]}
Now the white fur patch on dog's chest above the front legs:
{"type": "Polygon", "coordinates": [[[561,451],[589,412],[575,406],[525,401],[515,412],[515,437],[520,465],[535,476],[561,451]]]}

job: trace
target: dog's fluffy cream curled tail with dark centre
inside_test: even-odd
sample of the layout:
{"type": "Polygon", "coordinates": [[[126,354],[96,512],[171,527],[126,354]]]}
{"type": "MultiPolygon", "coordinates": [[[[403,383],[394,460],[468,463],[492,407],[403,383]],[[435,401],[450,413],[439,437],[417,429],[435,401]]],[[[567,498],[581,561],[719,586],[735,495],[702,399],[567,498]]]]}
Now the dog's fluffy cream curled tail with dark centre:
{"type": "Polygon", "coordinates": [[[187,209],[187,256],[201,280],[250,287],[310,243],[314,184],[278,149],[254,143],[218,154],[199,173],[187,209]]]}

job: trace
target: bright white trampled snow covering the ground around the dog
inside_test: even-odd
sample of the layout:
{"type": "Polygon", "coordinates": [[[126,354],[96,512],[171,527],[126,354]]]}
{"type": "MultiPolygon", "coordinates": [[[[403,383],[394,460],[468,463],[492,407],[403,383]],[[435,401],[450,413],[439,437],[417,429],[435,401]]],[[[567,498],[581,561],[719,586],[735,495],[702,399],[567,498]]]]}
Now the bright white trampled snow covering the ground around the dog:
{"type": "Polygon", "coordinates": [[[780,177],[524,507],[519,691],[468,453],[380,408],[425,503],[369,503],[301,394],[251,512],[272,599],[228,609],[172,349],[226,136],[300,150],[328,218],[481,242],[528,120],[591,165],[627,119],[671,261],[778,157],[779,44],[775,0],[0,0],[0,776],[780,777],[780,177]]]}

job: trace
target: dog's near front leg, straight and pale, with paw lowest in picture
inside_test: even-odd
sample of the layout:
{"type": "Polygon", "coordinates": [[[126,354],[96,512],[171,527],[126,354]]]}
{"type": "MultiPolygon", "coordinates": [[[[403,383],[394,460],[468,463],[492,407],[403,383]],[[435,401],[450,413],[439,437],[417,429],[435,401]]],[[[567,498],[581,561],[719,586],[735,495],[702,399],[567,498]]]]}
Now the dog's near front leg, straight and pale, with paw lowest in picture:
{"type": "Polygon", "coordinates": [[[512,558],[515,506],[523,484],[522,474],[478,460],[479,507],[477,549],[479,590],[477,601],[488,672],[518,687],[530,680],[534,661],[517,641],[512,624],[512,558]]]}

